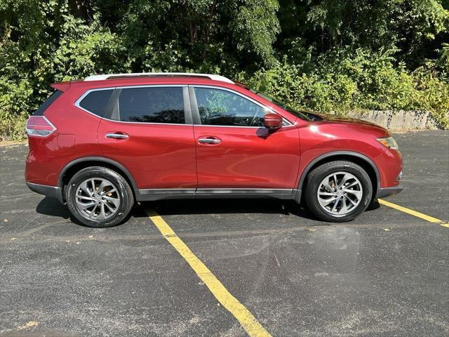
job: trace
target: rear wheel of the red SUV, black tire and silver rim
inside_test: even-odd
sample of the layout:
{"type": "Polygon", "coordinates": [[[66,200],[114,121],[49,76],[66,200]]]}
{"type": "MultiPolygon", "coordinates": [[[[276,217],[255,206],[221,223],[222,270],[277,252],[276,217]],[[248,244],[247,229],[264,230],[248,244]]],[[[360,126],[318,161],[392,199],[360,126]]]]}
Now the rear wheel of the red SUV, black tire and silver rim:
{"type": "Polygon", "coordinates": [[[119,225],[134,204],[133,191],[126,179],[102,166],[77,172],[67,186],[66,200],[76,219],[100,228],[119,225]]]}

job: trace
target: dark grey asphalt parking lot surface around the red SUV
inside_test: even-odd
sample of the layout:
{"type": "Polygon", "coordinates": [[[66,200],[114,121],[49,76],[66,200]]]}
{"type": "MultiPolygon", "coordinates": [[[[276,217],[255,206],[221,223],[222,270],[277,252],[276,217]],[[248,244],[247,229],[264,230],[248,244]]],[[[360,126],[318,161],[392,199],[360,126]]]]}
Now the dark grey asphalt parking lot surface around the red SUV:
{"type": "MultiPolygon", "coordinates": [[[[449,221],[449,132],[396,135],[394,204],[449,221]]],[[[278,200],[144,203],[92,229],[0,147],[0,336],[248,336],[161,218],[272,336],[448,336],[449,227],[381,204],[330,225],[278,200]],[[201,275],[200,275],[201,276],[201,275]]]]}

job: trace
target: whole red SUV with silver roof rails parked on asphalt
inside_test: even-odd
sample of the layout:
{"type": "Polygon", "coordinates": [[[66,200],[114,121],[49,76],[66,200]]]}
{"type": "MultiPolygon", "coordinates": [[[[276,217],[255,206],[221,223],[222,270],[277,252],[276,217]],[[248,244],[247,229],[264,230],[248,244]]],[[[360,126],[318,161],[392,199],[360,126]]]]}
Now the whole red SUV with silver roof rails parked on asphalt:
{"type": "Polygon", "coordinates": [[[293,110],[210,74],[97,75],[53,84],[27,123],[25,177],[92,227],[135,201],[303,199],[320,219],[356,218],[402,190],[386,129],[293,110]]]}

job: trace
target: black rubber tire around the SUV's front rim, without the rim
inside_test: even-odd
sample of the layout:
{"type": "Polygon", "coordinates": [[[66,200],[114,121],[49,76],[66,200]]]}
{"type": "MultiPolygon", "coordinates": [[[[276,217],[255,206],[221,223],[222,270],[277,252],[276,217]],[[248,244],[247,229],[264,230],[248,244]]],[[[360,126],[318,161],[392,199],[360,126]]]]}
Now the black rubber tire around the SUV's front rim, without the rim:
{"type": "Polygon", "coordinates": [[[354,220],[360,213],[366,210],[373,195],[373,185],[368,173],[366,173],[361,166],[358,166],[351,161],[330,161],[317,167],[307,175],[306,184],[304,199],[309,210],[314,213],[317,218],[333,223],[344,223],[354,220]],[[337,216],[330,213],[330,211],[323,209],[317,196],[317,192],[323,179],[337,172],[350,173],[355,176],[361,183],[363,189],[360,203],[344,216],[337,216]]]}

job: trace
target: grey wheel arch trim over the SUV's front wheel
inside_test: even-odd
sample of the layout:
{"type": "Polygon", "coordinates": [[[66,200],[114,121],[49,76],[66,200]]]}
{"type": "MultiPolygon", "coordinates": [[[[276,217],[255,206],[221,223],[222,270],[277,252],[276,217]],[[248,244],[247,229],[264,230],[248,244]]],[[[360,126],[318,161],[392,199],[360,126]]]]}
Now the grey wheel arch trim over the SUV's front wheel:
{"type": "MultiPolygon", "coordinates": [[[[366,173],[368,173],[368,176],[370,176],[371,183],[373,185],[373,199],[375,198],[375,195],[377,194],[377,191],[380,189],[380,173],[379,169],[377,169],[377,166],[375,162],[370,159],[369,157],[366,157],[366,155],[358,153],[358,152],[352,152],[352,151],[333,151],[328,152],[325,154],[321,154],[321,156],[316,157],[312,161],[307,164],[304,171],[302,171],[300,181],[298,183],[297,190],[302,191],[305,187],[305,184],[307,184],[307,175],[309,172],[311,172],[316,167],[326,164],[330,161],[335,160],[347,160],[352,161],[354,164],[358,164],[363,169],[365,169],[366,173]]],[[[295,198],[298,202],[301,199],[301,194],[297,195],[295,198]]]]}

